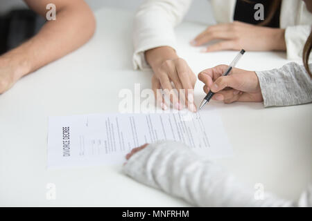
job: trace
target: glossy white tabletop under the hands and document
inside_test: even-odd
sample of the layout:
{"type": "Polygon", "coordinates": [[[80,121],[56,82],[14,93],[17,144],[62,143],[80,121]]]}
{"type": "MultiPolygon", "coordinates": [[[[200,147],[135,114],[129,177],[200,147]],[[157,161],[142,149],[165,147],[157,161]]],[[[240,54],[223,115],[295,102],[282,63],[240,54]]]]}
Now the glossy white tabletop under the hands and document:
{"type": "MultiPolygon", "coordinates": [[[[119,90],[150,72],[132,70],[132,13],[96,11],[98,28],[88,44],[21,79],[0,95],[0,206],[187,206],[141,185],[121,166],[46,169],[47,117],[118,111],[119,90]],[[56,199],[46,199],[46,184],[56,199]]],[[[200,53],[189,41],[205,25],[177,27],[179,54],[195,73],[228,64],[236,52],[200,53]]],[[[247,52],[239,68],[264,70],[286,64],[284,53],[247,52]]],[[[204,96],[196,84],[196,102],[204,96]]],[[[223,119],[234,157],[218,160],[242,182],[296,200],[312,180],[312,104],[263,108],[262,104],[211,102],[223,119]]]]}

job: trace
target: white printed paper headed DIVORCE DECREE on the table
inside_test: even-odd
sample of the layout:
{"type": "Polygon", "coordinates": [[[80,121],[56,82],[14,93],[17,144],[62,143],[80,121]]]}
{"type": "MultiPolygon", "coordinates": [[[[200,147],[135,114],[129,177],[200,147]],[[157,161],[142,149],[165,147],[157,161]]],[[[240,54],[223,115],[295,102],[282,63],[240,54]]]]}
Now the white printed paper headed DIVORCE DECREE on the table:
{"type": "Polygon", "coordinates": [[[162,140],[208,158],[232,155],[220,116],[206,113],[116,113],[49,117],[48,167],[122,164],[132,148],[162,140]]]}

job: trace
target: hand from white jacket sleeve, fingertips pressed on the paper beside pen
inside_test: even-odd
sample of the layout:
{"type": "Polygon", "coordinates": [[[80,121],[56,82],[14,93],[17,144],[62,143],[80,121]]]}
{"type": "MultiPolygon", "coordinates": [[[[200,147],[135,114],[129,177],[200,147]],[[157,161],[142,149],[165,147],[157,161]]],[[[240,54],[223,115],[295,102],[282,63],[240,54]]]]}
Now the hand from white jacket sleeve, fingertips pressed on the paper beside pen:
{"type": "Polygon", "coordinates": [[[164,97],[159,93],[159,89],[163,89],[165,94],[170,97],[173,108],[182,110],[185,103],[190,111],[196,112],[193,93],[196,75],[189,68],[187,62],[177,57],[175,50],[168,46],[147,50],[145,57],[154,71],[152,88],[157,104],[163,110],[168,108],[164,97]],[[178,90],[180,96],[173,92],[173,85],[171,83],[178,90]],[[182,93],[182,89],[185,90],[184,93],[182,93]]]}

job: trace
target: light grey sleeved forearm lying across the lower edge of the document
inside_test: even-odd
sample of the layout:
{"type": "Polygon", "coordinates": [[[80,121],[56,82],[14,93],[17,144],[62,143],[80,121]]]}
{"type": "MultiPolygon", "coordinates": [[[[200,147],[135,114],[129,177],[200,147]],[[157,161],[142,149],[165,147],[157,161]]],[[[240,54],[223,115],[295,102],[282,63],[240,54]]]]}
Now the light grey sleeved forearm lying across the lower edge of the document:
{"type": "Polygon", "coordinates": [[[124,171],[139,182],[196,206],[293,205],[266,194],[264,200],[255,200],[252,189],[178,142],[150,144],[130,158],[124,171]]]}

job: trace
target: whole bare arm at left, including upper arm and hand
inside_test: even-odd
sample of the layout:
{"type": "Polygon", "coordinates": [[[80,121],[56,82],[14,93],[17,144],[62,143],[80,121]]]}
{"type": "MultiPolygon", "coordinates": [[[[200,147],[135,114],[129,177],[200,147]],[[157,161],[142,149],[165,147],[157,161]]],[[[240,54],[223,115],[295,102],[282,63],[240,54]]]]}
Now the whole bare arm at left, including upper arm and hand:
{"type": "Polygon", "coordinates": [[[25,0],[28,6],[46,17],[46,5],[56,7],[56,20],[47,21],[42,30],[21,46],[0,57],[0,93],[34,70],[49,64],[85,44],[94,34],[96,21],[83,0],[25,0]]]}

